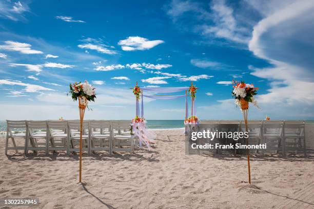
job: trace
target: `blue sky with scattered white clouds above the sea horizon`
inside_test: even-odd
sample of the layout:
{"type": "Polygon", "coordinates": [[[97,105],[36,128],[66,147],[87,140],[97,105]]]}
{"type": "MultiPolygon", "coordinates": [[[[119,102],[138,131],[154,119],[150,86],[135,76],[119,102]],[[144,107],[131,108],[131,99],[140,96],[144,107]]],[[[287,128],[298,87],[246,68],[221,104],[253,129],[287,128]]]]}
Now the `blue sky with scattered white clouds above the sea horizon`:
{"type": "MultiPolygon", "coordinates": [[[[250,119],[314,119],[313,19],[305,0],[0,0],[0,120],[76,119],[67,92],[84,80],[97,94],[86,119],[133,118],[136,81],[193,81],[201,120],[240,119],[232,79],[260,88],[250,119]]],[[[184,108],[144,98],[146,119],[184,119],[184,108]]]]}

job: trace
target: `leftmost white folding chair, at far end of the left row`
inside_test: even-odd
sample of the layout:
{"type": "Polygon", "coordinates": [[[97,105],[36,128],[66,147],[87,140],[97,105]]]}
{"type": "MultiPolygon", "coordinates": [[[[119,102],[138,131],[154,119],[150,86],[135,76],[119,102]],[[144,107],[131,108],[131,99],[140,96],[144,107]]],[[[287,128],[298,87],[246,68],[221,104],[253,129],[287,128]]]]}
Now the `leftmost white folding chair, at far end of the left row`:
{"type": "MultiPolygon", "coordinates": [[[[6,148],[5,154],[8,154],[8,150],[15,150],[15,153],[18,153],[18,150],[23,150],[24,154],[26,153],[26,140],[27,140],[27,128],[25,120],[7,120],[7,136],[6,136],[6,148]],[[9,139],[12,140],[13,147],[8,147],[9,139]],[[16,141],[23,140],[24,146],[16,146],[16,141]]],[[[18,142],[21,143],[21,142],[18,142]]]]}

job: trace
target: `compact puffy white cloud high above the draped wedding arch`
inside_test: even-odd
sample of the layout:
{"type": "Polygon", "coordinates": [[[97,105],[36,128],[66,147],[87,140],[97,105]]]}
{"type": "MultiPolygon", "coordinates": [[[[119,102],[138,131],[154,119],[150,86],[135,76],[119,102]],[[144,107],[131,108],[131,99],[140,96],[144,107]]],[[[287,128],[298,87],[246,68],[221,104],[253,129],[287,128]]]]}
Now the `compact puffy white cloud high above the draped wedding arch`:
{"type": "Polygon", "coordinates": [[[129,36],[127,39],[120,40],[118,45],[124,51],[135,51],[148,50],[162,43],[164,43],[163,40],[148,40],[139,36],[129,36]]]}

